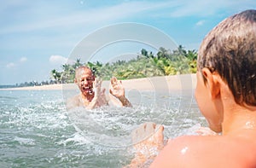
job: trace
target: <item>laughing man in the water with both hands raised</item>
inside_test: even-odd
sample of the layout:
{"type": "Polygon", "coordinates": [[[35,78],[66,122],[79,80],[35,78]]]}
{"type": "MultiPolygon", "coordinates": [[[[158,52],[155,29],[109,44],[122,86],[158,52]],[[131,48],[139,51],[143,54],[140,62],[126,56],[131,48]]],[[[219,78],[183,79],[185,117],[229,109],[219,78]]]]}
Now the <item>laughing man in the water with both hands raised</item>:
{"type": "MultiPolygon", "coordinates": [[[[80,94],[67,101],[67,109],[86,107],[92,109],[108,105],[102,81],[97,80],[89,67],[78,67],[75,71],[75,83],[78,84],[80,94]]],[[[131,102],[125,97],[125,89],[121,81],[111,78],[110,94],[116,97],[121,106],[131,107],[131,102]]]]}

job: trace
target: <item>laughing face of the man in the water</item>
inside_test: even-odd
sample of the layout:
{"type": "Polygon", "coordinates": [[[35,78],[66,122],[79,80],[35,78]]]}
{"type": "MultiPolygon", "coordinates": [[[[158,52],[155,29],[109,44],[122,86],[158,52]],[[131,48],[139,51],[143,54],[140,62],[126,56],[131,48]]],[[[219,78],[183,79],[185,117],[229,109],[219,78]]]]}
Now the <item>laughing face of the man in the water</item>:
{"type": "Polygon", "coordinates": [[[76,82],[84,95],[93,93],[94,76],[90,69],[81,69],[78,72],[76,82]]]}

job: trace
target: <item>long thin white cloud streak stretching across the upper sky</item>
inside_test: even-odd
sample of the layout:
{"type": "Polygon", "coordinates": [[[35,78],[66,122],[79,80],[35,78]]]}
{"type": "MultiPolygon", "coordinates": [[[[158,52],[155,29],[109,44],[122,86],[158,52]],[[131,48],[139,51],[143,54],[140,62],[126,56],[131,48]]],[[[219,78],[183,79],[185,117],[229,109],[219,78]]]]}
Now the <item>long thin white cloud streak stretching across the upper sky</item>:
{"type": "MultiPolygon", "coordinates": [[[[26,2],[27,5],[30,2],[26,2]]],[[[84,3],[84,1],[80,1],[84,3]]],[[[58,4],[58,3],[56,3],[58,4]]],[[[131,16],[137,16],[139,14],[150,15],[158,14],[160,17],[183,17],[183,16],[207,16],[217,14],[219,9],[231,9],[233,14],[234,10],[247,9],[248,7],[255,7],[256,2],[254,0],[247,0],[247,3],[244,3],[244,0],[228,1],[224,0],[216,3],[215,0],[208,1],[187,1],[187,0],[178,0],[178,1],[160,1],[158,3],[152,3],[147,1],[131,1],[125,3],[118,3],[112,6],[98,6],[96,8],[86,9],[86,10],[74,10],[72,13],[61,13],[61,9],[56,4],[49,6],[48,3],[42,3],[43,6],[41,9],[37,9],[38,13],[44,13],[45,9],[51,8],[50,14],[41,14],[42,17],[40,20],[38,18],[33,18],[26,22],[17,23],[11,26],[5,26],[1,29],[0,34],[13,33],[13,32],[30,32],[45,28],[58,29],[59,27],[71,26],[84,26],[98,24],[108,21],[118,21],[124,18],[129,18],[131,16]],[[53,10],[53,9],[58,10],[53,10]],[[61,14],[60,14],[61,13],[61,14]]],[[[28,8],[28,7],[27,7],[28,8]]],[[[26,15],[32,15],[31,9],[24,9],[26,15]]],[[[22,11],[22,12],[24,12],[22,11]]],[[[19,11],[18,11],[19,12],[19,11]]],[[[18,13],[19,14],[19,13],[18,13]]]]}

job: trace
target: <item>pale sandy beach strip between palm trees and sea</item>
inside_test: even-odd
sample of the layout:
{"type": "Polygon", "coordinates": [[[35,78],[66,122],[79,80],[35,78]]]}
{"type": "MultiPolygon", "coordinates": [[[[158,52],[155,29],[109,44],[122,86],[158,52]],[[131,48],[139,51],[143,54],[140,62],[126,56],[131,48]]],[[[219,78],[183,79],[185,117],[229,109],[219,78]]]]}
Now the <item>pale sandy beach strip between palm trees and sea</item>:
{"type": "MultiPolygon", "coordinates": [[[[108,90],[109,81],[103,81],[102,87],[108,90]]],[[[136,78],[122,80],[125,90],[194,90],[195,74],[183,74],[164,77],[136,78]]],[[[49,84],[32,87],[8,88],[0,90],[77,90],[76,84],[49,84]]]]}

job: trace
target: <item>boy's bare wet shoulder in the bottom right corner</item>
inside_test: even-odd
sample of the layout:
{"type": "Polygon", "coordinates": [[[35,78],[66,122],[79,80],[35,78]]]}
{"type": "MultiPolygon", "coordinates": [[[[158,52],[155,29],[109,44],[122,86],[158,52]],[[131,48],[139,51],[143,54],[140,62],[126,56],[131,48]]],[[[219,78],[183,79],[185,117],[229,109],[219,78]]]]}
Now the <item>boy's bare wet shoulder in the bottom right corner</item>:
{"type": "Polygon", "coordinates": [[[237,148],[239,141],[228,140],[223,136],[177,137],[168,142],[151,167],[253,167],[256,153],[252,147],[237,148]]]}

